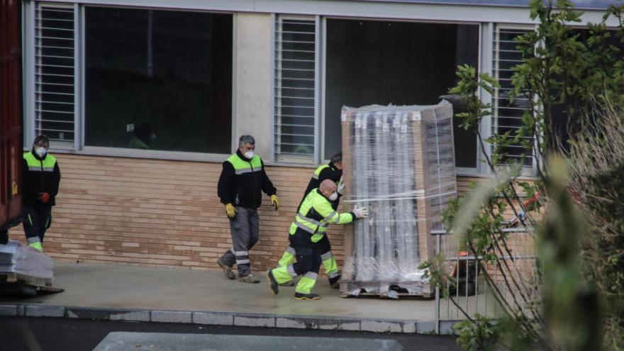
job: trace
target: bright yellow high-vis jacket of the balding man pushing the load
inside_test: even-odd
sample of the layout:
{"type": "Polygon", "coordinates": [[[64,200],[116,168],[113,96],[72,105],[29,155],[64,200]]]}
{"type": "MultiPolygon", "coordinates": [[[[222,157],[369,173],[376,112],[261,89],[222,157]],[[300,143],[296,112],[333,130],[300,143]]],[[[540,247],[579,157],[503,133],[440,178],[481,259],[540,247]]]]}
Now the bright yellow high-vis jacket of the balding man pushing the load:
{"type": "Polygon", "coordinates": [[[313,189],[306,199],[303,199],[299,212],[290,225],[289,233],[294,235],[297,230],[303,230],[311,235],[313,243],[318,243],[325,235],[328,225],[347,224],[352,221],[355,221],[354,213],[336,212],[321,191],[313,189]]]}

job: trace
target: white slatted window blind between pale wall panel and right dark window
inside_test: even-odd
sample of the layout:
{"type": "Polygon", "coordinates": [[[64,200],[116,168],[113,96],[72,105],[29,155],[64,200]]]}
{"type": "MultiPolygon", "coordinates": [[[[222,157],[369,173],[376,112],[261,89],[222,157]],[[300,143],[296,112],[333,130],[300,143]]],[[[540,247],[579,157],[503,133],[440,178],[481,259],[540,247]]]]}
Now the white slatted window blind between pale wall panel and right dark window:
{"type": "Polygon", "coordinates": [[[274,152],[277,162],[313,163],[316,133],[316,21],[277,16],[274,152]]]}

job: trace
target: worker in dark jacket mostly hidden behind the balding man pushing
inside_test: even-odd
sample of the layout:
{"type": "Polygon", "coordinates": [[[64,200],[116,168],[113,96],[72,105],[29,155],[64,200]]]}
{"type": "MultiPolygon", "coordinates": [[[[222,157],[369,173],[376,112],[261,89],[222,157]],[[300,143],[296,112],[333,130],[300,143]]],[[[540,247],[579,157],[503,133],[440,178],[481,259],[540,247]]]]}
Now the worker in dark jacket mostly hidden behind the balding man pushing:
{"type": "MultiPolygon", "coordinates": [[[[340,196],[342,196],[342,190],[344,188],[344,184],[342,183],[342,151],[336,152],[335,155],[332,156],[330,162],[326,165],[319,166],[308,182],[308,187],[306,188],[306,192],[303,194],[303,199],[301,199],[301,204],[306,199],[306,196],[310,194],[310,191],[313,189],[318,189],[321,186],[321,182],[325,179],[330,179],[332,182],[336,184],[338,197],[334,200],[330,200],[331,206],[334,211],[338,209],[338,204],[340,203],[340,196]]],[[[299,208],[297,211],[301,209],[301,204],[299,204],[299,208]]],[[[321,252],[321,262],[323,263],[323,268],[325,269],[325,274],[327,274],[329,285],[332,289],[338,289],[338,281],[340,280],[340,271],[338,270],[338,263],[336,262],[333,253],[331,252],[331,244],[327,235],[323,235],[323,238],[317,243],[317,246],[321,252]]],[[[284,255],[277,262],[277,267],[288,267],[289,264],[293,264],[295,262],[296,251],[294,247],[289,245],[286,247],[284,251],[284,255]]],[[[285,282],[285,286],[294,286],[294,282],[292,280],[285,282]]]]}

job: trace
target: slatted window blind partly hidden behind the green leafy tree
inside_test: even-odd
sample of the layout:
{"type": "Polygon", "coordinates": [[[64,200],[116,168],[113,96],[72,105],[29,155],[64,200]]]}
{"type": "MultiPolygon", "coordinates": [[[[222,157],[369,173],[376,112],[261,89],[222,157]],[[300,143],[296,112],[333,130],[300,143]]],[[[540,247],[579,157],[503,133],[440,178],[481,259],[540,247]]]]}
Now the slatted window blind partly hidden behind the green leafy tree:
{"type": "MultiPolygon", "coordinates": [[[[518,43],[515,39],[527,32],[526,29],[496,28],[492,70],[500,87],[494,90],[492,100],[492,133],[494,135],[511,132],[510,135],[515,136],[522,126],[523,113],[529,107],[529,100],[525,94],[516,96],[513,102],[509,99],[513,88],[511,84],[513,67],[522,63],[522,53],[518,51],[518,43]]],[[[533,140],[533,137],[528,135],[523,139],[533,140]]],[[[504,161],[520,162],[525,155],[523,165],[525,167],[533,165],[533,152],[526,150],[520,143],[508,145],[503,148],[502,152],[505,156],[504,161]]]]}

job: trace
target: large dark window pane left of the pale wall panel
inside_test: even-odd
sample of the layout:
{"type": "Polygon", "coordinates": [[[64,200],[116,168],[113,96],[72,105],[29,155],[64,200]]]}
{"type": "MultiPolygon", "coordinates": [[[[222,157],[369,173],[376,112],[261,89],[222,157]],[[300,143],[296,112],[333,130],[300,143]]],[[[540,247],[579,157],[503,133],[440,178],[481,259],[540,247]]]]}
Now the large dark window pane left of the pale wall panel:
{"type": "Polygon", "coordinates": [[[87,8],[87,145],[229,153],[232,16],[87,8]]]}

